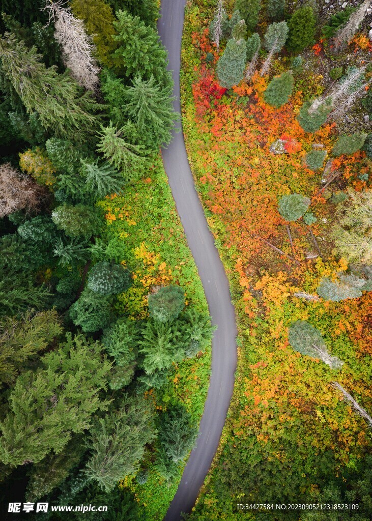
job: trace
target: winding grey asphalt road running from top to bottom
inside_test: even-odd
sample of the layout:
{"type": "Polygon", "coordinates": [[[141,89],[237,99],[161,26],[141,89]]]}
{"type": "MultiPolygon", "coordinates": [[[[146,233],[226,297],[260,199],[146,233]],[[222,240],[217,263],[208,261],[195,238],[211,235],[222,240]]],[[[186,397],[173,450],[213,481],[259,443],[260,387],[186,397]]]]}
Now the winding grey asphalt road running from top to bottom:
{"type": "MultiPolygon", "coordinates": [[[[168,50],[169,70],[175,82],[175,109],[180,112],[180,62],[185,0],[162,0],[158,31],[168,50]]],[[[164,521],[179,521],[195,504],[224,427],[237,366],[237,327],[229,283],[214,238],[195,191],[182,132],[175,133],[163,162],[178,214],[195,259],[209,313],[218,329],[212,341],[212,374],[200,423],[199,437],[183,471],[177,493],[164,521]]]]}

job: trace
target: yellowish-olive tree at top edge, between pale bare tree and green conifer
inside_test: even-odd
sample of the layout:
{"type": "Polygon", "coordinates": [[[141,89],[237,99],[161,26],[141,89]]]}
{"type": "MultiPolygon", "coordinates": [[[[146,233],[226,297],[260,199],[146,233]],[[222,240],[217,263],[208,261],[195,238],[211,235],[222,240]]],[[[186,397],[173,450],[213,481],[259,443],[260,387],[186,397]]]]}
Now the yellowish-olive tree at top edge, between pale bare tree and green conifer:
{"type": "Polygon", "coordinates": [[[86,31],[92,35],[97,56],[103,65],[112,66],[110,55],[116,49],[114,42],[114,15],[104,0],[72,0],[72,13],[84,20],[86,31]]]}

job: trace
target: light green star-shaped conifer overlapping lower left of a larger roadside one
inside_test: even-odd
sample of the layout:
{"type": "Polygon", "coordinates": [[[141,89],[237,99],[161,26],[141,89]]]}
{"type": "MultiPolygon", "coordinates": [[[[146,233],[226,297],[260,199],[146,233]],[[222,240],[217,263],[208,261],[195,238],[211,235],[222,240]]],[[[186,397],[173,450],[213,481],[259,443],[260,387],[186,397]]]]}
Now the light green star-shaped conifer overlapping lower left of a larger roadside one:
{"type": "Polygon", "coordinates": [[[148,159],[143,145],[133,145],[123,138],[127,128],[117,130],[111,121],[108,127],[101,126],[97,152],[101,152],[110,165],[122,172],[123,179],[130,182],[145,171],[148,159]]]}

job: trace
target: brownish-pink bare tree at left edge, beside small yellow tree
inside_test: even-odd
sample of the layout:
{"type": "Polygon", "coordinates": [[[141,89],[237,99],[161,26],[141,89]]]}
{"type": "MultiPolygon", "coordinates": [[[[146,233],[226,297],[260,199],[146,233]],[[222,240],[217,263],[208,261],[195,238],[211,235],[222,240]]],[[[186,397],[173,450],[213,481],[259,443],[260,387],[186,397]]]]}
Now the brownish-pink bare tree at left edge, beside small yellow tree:
{"type": "Polygon", "coordinates": [[[46,192],[9,163],[0,165],[0,218],[17,210],[37,210],[46,192]]]}

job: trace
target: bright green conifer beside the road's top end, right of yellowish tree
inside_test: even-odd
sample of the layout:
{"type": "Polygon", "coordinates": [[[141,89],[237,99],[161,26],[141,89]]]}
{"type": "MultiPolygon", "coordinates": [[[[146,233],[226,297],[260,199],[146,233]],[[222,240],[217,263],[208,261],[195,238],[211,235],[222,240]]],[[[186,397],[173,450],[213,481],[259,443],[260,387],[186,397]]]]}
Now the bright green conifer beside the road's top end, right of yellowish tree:
{"type": "Polygon", "coordinates": [[[159,42],[155,29],[148,27],[138,16],[126,10],[116,12],[114,40],[118,48],[112,54],[119,67],[116,71],[126,77],[141,74],[144,80],[155,79],[156,84],[168,83],[167,52],[159,42]]]}

